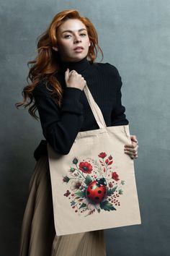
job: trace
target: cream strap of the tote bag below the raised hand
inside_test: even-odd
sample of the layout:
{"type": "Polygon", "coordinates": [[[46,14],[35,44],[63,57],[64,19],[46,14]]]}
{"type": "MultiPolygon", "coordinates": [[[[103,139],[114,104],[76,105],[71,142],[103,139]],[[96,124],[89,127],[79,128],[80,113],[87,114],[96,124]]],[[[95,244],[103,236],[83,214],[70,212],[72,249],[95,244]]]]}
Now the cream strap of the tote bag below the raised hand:
{"type": "Polygon", "coordinates": [[[91,108],[91,111],[94,114],[94,118],[96,119],[97,124],[99,125],[99,128],[107,127],[107,125],[104,121],[104,117],[102,115],[102,111],[100,110],[97,103],[94,101],[94,98],[91,95],[91,92],[90,92],[87,85],[84,86],[84,93],[86,95],[87,101],[89,102],[89,106],[91,108]]]}

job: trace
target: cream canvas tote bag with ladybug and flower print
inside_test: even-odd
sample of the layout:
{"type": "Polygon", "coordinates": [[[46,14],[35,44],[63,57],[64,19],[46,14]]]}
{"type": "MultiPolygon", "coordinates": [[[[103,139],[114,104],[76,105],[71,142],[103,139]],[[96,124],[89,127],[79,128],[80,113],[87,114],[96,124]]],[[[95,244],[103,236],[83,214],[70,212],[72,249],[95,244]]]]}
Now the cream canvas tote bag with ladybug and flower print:
{"type": "Polygon", "coordinates": [[[129,125],[107,127],[87,85],[99,129],[79,132],[67,155],[48,143],[55,231],[58,236],[140,224],[129,125]]]}

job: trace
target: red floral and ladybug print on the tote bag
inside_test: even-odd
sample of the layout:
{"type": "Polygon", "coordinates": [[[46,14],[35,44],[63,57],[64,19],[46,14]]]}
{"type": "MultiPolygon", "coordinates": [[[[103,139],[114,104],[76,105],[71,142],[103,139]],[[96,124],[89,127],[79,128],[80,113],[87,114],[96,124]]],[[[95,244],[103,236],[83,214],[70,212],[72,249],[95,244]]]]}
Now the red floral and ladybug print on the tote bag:
{"type": "Polygon", "coordinates": [[[68,197],[71,207],[79,215],[117,210],[120,206],[125,181],[120,180],[112,155],[107,157],[107,153],[101,152],[98,157],[98,160],[86,158],[80,162],[73,158],[69,174],[63,176],[67,185],[63,196],[68,197]]]}

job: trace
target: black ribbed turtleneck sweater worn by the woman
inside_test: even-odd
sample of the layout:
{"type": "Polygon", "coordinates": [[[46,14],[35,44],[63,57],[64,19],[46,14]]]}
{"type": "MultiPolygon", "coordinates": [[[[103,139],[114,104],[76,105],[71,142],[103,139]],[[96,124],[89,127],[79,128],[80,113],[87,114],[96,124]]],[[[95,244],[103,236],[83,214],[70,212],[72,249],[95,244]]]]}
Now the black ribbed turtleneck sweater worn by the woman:
{"type": "Polygon", "coordinates": [[[63,88],[61,108],[51,98],[45,82],[40,82],[33,90],[45,137],[34,152],[36,160],[41,155],[48,155],[47,141],[57,153],[66,155],[78,132],[99,129],[84,90],[66,87],[67,67],[84,77],[94,101],[102,111],[107,127],[129,124],[125,116],[125,106],[121,102],[122,80],[115,66],[109,63],[91,63],[85,57],[78,62],[61,61],[60,67],[56,77],[63,88]]]}

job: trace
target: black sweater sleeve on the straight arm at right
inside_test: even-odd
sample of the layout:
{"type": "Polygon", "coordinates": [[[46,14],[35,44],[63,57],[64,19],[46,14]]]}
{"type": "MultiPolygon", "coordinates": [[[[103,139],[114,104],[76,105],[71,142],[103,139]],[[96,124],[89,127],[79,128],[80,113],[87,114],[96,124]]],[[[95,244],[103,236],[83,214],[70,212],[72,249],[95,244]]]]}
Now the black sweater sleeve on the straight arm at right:
{"type": "Polygon", "coordinates": [[[127,125],[129,124],[129,121],[125,115],[125,106],[122,106],[122,78],[120,77],[120,74],[115,66],[113,66],[112,64],[109,64],[109,66],[111,67],[112,74],[115,77],[114,80],[116,86],[116,106],[112,110],[112,125],[127,125]]]}

